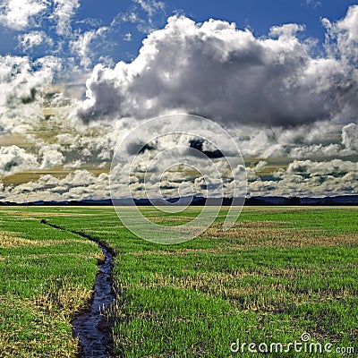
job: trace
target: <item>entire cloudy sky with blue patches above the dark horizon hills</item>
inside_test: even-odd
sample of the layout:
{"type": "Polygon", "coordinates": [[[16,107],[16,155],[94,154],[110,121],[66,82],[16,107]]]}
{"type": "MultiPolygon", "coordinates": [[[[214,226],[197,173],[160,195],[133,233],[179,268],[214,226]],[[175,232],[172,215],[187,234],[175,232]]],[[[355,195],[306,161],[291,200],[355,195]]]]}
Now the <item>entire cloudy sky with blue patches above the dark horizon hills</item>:
{"type": "Polygon", "coordinates": [[[2,0],[0,200],[358,194],[357,65],[356,1],[2,0]]]}

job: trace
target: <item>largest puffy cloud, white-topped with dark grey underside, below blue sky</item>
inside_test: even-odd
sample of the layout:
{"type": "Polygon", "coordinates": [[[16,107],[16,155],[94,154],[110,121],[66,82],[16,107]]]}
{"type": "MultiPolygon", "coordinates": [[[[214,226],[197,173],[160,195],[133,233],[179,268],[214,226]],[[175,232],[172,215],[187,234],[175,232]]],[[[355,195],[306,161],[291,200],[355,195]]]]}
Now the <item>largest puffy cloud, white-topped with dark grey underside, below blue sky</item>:
{"type": "Polygon", "coordinates": [[[310,45],[296,37],[300,30],[286,24],[272,28],[271,38],[256,38],[226,21],[170,17],[132,63],[95,66],[77,114],[90,121],[181,110],[265,126],[355,118],[356,68],[329,55],[312,57],[310,45]]]}

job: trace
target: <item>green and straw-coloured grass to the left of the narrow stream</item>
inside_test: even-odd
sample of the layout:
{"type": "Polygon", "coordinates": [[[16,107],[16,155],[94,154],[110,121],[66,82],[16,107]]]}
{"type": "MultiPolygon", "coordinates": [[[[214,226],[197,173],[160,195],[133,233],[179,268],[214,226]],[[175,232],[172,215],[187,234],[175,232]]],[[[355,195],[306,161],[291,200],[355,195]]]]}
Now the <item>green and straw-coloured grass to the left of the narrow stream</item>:
{"type": "Polygon", "coordinates": [[[73,357],[71,320],[90,299],[101,251],[27,211],[0,209],[0,356],[73,357]]]}

